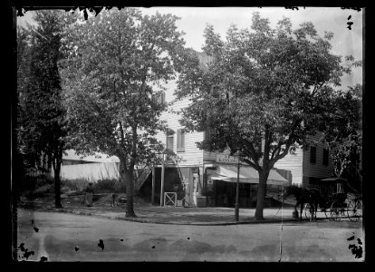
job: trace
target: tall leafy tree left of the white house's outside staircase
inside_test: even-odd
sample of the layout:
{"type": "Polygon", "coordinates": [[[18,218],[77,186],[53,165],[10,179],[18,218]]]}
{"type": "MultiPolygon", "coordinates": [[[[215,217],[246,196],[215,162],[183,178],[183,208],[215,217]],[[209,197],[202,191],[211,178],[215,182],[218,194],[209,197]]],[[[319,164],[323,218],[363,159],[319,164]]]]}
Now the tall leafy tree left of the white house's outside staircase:
{"type": "Polygon", "coordinates": [[[67,24],[61,63],[65,105],[81,153],[101,151],[120,159],[126,182],[126,217],[133,209],[135,166],[156,159],[165,109],[155,89],[174,76],[172,59],[184,42],[173,15],[141,15],[138,9],[103,10],[87,21],[67,24]]]}

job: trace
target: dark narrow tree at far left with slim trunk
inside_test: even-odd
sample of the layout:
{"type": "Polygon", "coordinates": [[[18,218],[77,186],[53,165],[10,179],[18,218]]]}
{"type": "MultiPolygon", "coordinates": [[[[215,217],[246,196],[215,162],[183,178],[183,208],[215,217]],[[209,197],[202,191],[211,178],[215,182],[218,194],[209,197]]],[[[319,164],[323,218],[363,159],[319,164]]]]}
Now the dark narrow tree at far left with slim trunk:
{"type": "Polygon", "coordinates": [[[34,21],[37,25],[28,25],[26,40],[19,32],[19,142],[32,167],[43,157],[53,166],[55,207],[62,208],[60,170],[66,127],[57,67],[61,58],[59,13],[37,11],[34,21]]]}

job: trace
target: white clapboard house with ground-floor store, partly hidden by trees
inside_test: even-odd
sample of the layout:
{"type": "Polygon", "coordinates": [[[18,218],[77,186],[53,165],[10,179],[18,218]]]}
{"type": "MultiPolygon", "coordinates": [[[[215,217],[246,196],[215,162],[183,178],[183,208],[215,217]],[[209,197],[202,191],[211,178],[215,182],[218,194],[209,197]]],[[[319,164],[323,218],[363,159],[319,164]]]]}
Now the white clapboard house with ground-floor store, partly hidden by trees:
{"type": "MultiPolygon", "coordinates": [[[[149,179],[145,180],[140,189],[143,189],[145,195],[151,196],[152,203],[158,201],[160,205],[234,207],[236,158],[230,157],[228,152],[199,150],[196,142],[203,141],[207,133],[184,131],[179,123],[180,116],[175,112],[188,107],[189,101],[175,100],[176,82],[169,82],[164,87],[164,91],[159,92],[159,102],[167,102],[169,106],[160,118],[168,121],[168,127],[175,133],[167,135],[160,132],[157,138],[168,150],[177,154],[177,159],[165,158],[162,165],[154,166],[149,179]]],[[[312,137],[312,140],[317,140],[318,136],[312,137]]],[[[239,175],[240,207],[252,207],[256,203],[258,174],[250,166],[241,165],[239,175]]],[[[277,194],[288,184],[318,187],[319,180],[330,176],[332,160],[325,145],[318,143],[315,146],[299,147],[295,154],[288,154],[274,164],[267,181],[267,191],[277,194]]]]}

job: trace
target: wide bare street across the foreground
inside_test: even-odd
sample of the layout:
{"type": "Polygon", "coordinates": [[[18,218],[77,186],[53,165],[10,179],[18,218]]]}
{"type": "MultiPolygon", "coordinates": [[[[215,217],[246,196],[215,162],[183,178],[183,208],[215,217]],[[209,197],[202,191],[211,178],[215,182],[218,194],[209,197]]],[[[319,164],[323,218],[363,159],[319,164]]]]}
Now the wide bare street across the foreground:
{"type": "Polygon", "coordinates": [[[283,229],[281,224],[274,223],[188,226],[24,209],[18,210],[18,218],[17,244],[23,243],[24,247],[18,254],[20,260],[39,261],[41,257],[47,261],[364,260],[364,250],[362,256],[356,257],[349,248],[351,244],[365,246],[361,221],[285,222],[283,229]],[[24,257],[26,249],[28,253],[34,251],[34,255],[24,257]]]}

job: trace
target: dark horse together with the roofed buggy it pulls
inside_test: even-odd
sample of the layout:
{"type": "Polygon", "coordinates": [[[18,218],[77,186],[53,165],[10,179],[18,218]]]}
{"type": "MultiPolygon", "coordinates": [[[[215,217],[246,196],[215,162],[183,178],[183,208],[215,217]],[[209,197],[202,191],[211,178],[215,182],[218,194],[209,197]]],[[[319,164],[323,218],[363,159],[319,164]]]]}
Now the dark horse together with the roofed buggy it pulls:
{"type": "Polygon", "coordinates": [[[362,215],[361,194],[351,189],[347,180],[328,178],[310,184],[309,188],[290,186],[284,191],[284,198],[294,195],[295,210],[300,205],[300,219],[316,219],[318,209],[327,219],[340,221],[349,218],[356,222],[362,215]]]}

